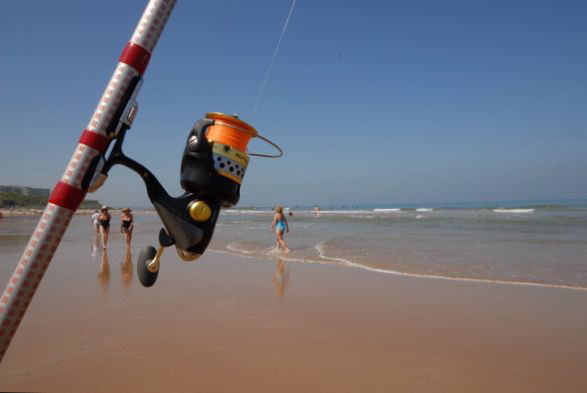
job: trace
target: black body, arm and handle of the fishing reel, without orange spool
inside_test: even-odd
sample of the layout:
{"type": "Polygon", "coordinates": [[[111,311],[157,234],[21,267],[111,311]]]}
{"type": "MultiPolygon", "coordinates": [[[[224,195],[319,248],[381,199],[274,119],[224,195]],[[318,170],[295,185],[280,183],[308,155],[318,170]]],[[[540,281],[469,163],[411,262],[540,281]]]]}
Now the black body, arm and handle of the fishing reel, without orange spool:
{"type": "MultiPolygon", "coordinates": [[[[144,286],[154,284],[163,248],[174,245],[184,261],[199,258],[212,239],[220,210],[234,206],[240,199],[240,179],[244,169],[237,182],[221,175],[215,168],[214,160],[218,159],[219,146],[215,147],[216,142],[206,138],[206,132],[213,124],[214,120],[200,119],[188,135],[180,173],[180,184],[185,193],[179,197],[171,197],[147,168],[124,155],[122,144],[129,127],[122,127],[117,133],[112,152],[98,175],[105,179],[114,165],[123,165],[138,173],[161,218],[164,229],[159,234],[159,249],[154,252],[153,247],[147,247],[148,250],[145,248],[138,261],[137,271],[144,286]]],[[[221,146],[230,150],[230,147],[221,146]]],[[[245,152],[241,153],[246,156],[245,152]]]]}

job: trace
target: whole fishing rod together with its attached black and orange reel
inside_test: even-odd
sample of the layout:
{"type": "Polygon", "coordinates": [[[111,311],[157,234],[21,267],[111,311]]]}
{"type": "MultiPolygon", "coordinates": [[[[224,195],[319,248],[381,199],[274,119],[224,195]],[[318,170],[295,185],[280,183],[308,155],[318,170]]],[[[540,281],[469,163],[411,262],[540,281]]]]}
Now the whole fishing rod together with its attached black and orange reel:
{"type": "Polygon", "coordinates": [[[98,105],[83,130],[65,172],[53,188],[47,206],[0,297],[0,361],[55,254],[73,214],[88,192],[99,189],[114,165],[138,173],[163,223],[159,248],[146,247],[139,255],[137,272],[144,286],[157,279],[163,249],[174,245],[184,261],[202,255],[212,238],[220,209],[235,205],[248,166],[249,155],[279,157],[282,150],[259,135],[236,115],[207,113],[189,132],[184,149],[180,184],[184,194],[171,197],[143,165],[123,153],[126,131],[138,111],[143,75],[176,0],[150,0],[120,55],[119,62],[98,105]],[[247,153],[251,138],[258,137],[277,154],[247,153]],[[111,142],[115,141],[108,157],[111,142]]]}

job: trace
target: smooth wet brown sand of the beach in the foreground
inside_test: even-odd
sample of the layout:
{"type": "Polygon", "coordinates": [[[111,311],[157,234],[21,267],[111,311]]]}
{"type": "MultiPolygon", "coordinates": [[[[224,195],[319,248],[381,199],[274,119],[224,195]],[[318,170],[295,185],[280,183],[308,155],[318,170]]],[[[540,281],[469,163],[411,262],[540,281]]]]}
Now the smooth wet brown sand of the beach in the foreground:
{"type": "MultiPolygon", "coordinates": [[[[587,390],[586,291],[173,251],[146,289],[129,261],[151,238],[92,258],[66,236],[1,391],[587,390]]],[[[5,250],[2,285],[22,251],[5,250]]]]}

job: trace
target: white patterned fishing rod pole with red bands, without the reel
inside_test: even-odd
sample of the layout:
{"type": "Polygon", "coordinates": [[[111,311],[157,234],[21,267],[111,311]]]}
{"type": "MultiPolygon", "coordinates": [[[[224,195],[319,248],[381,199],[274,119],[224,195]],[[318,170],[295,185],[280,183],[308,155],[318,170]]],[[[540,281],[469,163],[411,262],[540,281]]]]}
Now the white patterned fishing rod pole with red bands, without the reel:
{"type": "Polygon", "coordinates": [[[0,298],[0,360],[63,238],[73,214],[84,200],[99,157],[123,125],[134,119],[132,105],[151,54],[173,10],[175,0],[150,0],[98,105],[83,130],[65,172],[0,298]],[[129,105],[130,104],[130,105],[129,105]]]}

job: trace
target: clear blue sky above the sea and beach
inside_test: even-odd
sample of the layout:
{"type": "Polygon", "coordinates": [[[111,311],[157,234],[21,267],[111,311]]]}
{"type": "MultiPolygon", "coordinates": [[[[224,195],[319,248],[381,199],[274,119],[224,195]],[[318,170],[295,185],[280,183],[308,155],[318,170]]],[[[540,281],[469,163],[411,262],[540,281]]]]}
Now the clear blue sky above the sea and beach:
{"type": "MultiPolygon", "coordinates": [[[[224,112],[285,151],[241,206],[587,198],[587,2],[298,0],[253,115],[291,4],[177,2],[124,146],[170,194],[224,112]]],[[[0,2],[0,184],[55,185],[145,5],[0,2]]],[[[124,167],[87,198],[149,205],[124,167]]]]}

